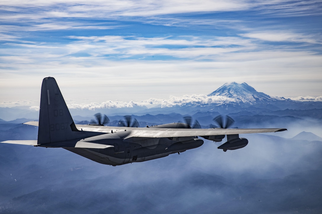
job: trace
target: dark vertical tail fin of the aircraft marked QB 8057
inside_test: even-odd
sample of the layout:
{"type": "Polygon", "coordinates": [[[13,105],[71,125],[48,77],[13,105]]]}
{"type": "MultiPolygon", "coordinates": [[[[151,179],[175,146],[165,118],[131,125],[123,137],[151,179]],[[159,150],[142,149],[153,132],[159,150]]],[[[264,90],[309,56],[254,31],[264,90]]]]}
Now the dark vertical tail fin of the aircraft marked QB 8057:
{"type": "Polygon", "coordinates": [[[56,80],[53,77],[44,78],[40,97],[38,144],[98,134],[83,132],[76,128],[56,80]]]}

